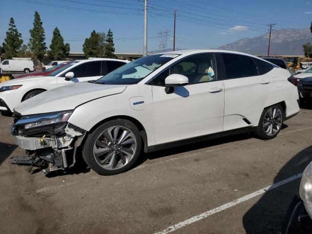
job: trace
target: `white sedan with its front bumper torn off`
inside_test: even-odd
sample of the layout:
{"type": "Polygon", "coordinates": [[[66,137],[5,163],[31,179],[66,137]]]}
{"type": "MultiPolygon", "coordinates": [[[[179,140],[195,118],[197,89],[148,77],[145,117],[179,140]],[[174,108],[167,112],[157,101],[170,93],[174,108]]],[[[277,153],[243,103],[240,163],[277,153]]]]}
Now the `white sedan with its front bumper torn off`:
{"type": "Polygon", "coordinates": [[[293,79],[248,54],[164,52],[22,102],[11,132],[46,173],[72,167],[82,151],[90,168],[114,175],[142,150],[244,132],[276,137],[283,121],[299,112],[293,79]]]}

